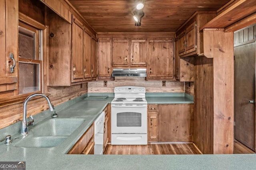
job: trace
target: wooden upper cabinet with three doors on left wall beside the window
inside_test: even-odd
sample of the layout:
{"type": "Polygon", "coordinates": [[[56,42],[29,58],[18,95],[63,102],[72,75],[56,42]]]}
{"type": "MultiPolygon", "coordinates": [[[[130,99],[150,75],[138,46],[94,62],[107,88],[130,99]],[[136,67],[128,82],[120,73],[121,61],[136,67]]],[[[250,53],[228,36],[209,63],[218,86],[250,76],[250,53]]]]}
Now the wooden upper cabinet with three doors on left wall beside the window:
{"type": "Polygon", "coordinates": [[[72,19],[70,24],[52,10],[47,12],[48,86],[71,86],[96,80],[96,37],[87,33],[76,17],[72,19]]]}

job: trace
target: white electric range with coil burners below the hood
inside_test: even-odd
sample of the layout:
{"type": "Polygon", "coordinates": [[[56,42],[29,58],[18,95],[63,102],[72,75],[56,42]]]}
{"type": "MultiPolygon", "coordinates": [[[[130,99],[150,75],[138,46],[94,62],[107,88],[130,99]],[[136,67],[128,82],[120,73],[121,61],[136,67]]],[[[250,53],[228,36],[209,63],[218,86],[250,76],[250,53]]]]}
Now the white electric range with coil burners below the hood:
{"type": "Polygon", "coordinates": [[[147,145],[146,88],[114,88],[111,102],[111,145],[147,145]]]}

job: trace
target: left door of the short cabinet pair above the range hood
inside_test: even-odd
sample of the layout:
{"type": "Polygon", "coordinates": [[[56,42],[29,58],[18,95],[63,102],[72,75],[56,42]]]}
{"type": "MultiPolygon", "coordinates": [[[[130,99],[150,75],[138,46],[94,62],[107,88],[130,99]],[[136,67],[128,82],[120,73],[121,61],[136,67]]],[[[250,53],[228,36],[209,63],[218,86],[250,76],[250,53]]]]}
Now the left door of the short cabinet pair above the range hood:
{"type": "Polygon", "coordinates": [[[113,38],[112,66],[128,66],[129,41],[128,38],[113,38]]]}

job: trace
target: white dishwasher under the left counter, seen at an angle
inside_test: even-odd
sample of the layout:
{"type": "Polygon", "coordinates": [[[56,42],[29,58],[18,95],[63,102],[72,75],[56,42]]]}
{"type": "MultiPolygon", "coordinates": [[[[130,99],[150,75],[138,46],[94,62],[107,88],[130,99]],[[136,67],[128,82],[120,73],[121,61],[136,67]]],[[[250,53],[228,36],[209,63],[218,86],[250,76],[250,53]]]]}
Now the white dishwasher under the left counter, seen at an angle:
{"type": "Polygon", "coordinates": [[[105,112],[102,111],[94,121],[94,154],[103,154],[103,134],[104,134],[105,112]]]}

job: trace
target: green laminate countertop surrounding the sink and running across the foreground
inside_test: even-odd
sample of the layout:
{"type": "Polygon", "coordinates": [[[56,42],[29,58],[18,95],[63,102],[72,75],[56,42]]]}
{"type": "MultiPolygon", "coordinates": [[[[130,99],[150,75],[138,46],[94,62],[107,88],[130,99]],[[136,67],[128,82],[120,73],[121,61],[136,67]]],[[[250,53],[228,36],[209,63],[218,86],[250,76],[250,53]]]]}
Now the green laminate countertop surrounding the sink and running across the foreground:
{"type": "MultiPolygon", "coordinates": [[[[204,155],[76,155],[66,154],[90,127],[102,110],[111,102],[107,100],[80,100],[58,111],[58,118],[84,118],[86,121],[62,144],[53,148],[18,148],[0,143],[0,162],[26,161],[27,170],[249,170],[256,166],[256,154],[204,154],[204,155]]],[[[40,113],[41,114],[41,113],[40,113]]],[[[34,117],[35,122],[43,119],[34,117]]],[[[46,113],[49,114],[49,113],[46,113]]],[[[45,118],[45,117],[44,117],[45,118]]],[[[58,119],[56,118],[56,119],[58,119]]],[[[50,116],[45,119],[53,119],[50,116]]],[[[18,125],[20,123],[18,122],[18,125]]],[[[36,124],[35,124],[36,125],[36,124]]],[[[10,125],[0,129],[1,138],[6,131],[16,129],[10,125]]],[[[18,129],[20,129],[18,127],[18,129]]],[[[32,131],[32,127],[30,129],[32,131]]],[[[19,136],[10,134],[12,137],[19,136]]],[[[29,135],[29,134],[28,134],[29,135]]],[[[1,163],[0,163],[1,164],[1,163]]]]}

